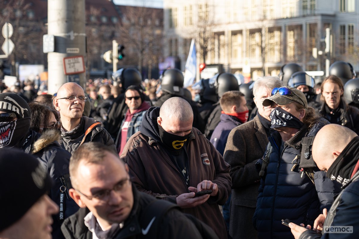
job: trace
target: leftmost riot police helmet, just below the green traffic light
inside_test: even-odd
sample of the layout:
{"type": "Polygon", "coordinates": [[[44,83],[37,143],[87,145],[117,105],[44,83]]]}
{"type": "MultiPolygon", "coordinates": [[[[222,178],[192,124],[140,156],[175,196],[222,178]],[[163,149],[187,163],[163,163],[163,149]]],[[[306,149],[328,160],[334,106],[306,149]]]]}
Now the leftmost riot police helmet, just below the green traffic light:
{"type": "Polygon", "coordinates": [[[142,76],[136,68],[128,67],[122,68],[112,73],[113,81],[122,84],[122,89],[125,91],[127,87],[135,85],[141,86],[142,76]]]}

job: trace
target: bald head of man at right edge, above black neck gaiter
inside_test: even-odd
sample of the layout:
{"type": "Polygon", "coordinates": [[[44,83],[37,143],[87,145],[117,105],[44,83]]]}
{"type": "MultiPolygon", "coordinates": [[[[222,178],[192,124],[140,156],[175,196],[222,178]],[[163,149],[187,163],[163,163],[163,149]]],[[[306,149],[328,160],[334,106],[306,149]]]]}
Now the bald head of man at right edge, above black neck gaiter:
{"type": "Polygon", "coordinates": [[[332,165],[335,159],[358,136],[353,130],[338,124],[325,125],[314,138],[313,159],[322,171],[332,165]]]}

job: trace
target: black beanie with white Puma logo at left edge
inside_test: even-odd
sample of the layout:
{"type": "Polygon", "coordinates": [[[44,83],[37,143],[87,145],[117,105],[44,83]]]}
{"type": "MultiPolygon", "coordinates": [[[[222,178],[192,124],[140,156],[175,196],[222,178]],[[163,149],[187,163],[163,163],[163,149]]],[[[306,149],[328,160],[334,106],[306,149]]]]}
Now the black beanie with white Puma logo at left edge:
{"type": "Polygon", "coordinates": [[[30,107],[27,102],[15,93],[0,93],[0,111],[16,113],[18,119],[30,117],[30,107]]]}

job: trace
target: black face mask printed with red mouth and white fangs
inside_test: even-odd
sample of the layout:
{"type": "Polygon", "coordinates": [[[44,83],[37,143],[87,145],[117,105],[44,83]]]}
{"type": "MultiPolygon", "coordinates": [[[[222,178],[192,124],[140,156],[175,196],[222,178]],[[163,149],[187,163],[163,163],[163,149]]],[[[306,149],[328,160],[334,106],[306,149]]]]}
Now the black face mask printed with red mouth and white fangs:
{"type": "Polygon", "coordinates": [[[0,148],[13,147],[20,143],[30,128],[30,119],[23,118],[0,123],[0,148]]]}

